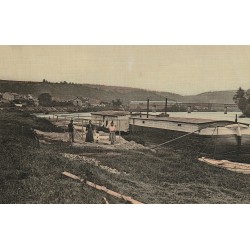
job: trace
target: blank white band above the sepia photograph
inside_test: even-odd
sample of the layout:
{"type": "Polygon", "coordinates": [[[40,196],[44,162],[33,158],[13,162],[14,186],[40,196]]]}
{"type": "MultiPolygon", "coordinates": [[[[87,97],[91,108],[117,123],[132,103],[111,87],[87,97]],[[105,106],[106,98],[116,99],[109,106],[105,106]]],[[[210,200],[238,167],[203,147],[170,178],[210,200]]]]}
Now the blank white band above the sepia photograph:
{"type": "Polygon", "coordinates": [[[248,2],[1,1],[1,44],[249,44],[248,2]]]}

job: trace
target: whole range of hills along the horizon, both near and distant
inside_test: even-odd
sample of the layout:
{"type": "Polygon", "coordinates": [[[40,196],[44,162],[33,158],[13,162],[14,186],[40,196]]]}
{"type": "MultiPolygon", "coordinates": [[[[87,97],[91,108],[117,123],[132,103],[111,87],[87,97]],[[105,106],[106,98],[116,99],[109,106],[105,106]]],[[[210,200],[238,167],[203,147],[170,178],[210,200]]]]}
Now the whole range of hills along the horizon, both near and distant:
{"type": "Polygon", "coordinates": [[[211,91],[198,95],[183,96],[170,92],[86,83],[72,84],[66,82],[48,83],[0,80],[0,92],[32,94],[35,97],[41,93],[47,92],[53,97],[57,97],[62,100],[72,100],[76,97],[82,96],[111,102],[112,100],[119,98],[123,103],[129,103],[129,101],[136,100],[146,100],[148,97],[155,101],[161,101],[168,97],[170,100],[180,102],[233,103],[233,95],[236,91],[211,91]]]}

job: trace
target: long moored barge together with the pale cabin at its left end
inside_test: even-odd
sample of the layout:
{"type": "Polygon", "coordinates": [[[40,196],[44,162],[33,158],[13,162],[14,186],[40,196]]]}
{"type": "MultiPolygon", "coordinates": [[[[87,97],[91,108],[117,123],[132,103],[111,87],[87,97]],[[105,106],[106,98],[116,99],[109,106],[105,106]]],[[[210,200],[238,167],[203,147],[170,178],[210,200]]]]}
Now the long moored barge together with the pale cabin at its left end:
{"type": "Polygon", "coordinates": [[[250,146],[250,126],[227,120],[169,117],[167,115],[131,114],[127,111],[101,111],[91,113],[98,127],[108,128],[114,122],[117,132],[158,134],[167,138],[192,134],[199,139],[213,138],[218,145],[250,146]]]}

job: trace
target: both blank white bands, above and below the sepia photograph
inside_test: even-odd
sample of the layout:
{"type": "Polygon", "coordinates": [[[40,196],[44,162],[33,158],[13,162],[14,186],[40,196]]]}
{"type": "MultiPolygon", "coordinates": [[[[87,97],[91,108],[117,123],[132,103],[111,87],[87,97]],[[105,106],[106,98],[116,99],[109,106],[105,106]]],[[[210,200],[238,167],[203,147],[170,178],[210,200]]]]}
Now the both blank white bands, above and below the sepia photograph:
{"type": "MultiPolygon", "coordinates": [[[[1,44],[249,44],[248,1],[1,1],[1,44]]],[[[0,59],[1,60],[1,59],[0,59]]],[[[242,249],[244,205],[1,205],[3,249],[242,249]]]]}

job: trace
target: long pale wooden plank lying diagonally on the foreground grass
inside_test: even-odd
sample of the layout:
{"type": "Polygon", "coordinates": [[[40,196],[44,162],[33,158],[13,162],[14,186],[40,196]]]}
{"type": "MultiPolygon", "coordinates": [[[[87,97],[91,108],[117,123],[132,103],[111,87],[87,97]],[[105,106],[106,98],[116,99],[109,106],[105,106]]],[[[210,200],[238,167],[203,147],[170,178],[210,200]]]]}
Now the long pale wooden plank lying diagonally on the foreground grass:
{"type": "Polygon", "coordinates": [[[113,190],[107,189],[104,186],[100,186],[100,185],[97,185],[97,184],[95,184],[93,182],[81,179],[80,177],[78,177],[78,176],[76,176],[74,174],[71,174],[69,172],[65,171],[65,172],[62,172],[62,174],[67,176],[67,177],[70,177],[70,178],[72,178],[74,180],[79,180],[80,182],[85,183],[86,185],[88,185],[90,187],[93,187],[93,188],[95,188],[97,190],[103,191],[103,192],[105,192],[105,193],[107,193],[109,195],[112,195],[112,196],[117,197],[119,199],[123,199],[123,200],[128,201],[128,202],[131,202],[132,204],[143,204],[142,202],[137,201],[137,200],[131,198],[130,196],[122,195],[122,194],[117,193],[117,192],[115,192],[113,190]]]}

